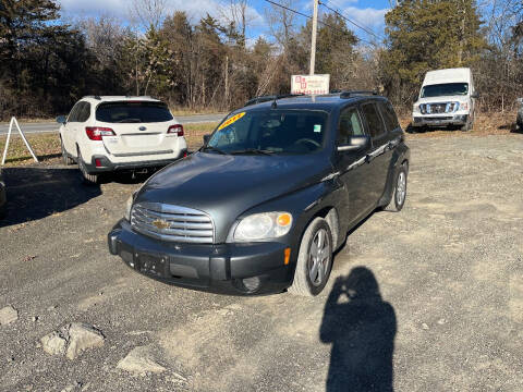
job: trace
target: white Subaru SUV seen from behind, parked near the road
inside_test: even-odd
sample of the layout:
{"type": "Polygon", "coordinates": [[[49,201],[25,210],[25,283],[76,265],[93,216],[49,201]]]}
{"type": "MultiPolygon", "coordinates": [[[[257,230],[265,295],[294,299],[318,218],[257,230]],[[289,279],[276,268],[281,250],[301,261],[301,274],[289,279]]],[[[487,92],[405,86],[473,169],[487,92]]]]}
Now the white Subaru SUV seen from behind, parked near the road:
{"type": "Polygon", "coordinates": [[[187,154],[183,126],[150,97],[84,97],[57,121],[64,163],[76,161],[87,183],[105,172],[163,167],[187,154]]]}

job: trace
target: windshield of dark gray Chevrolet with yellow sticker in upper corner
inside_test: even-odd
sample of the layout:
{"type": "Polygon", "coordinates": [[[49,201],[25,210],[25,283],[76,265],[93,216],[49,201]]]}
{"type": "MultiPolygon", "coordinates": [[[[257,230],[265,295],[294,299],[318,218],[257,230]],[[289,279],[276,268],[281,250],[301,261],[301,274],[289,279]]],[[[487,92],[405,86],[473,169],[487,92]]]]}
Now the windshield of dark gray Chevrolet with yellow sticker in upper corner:
{"type": "Polygon", "coordinates": [[[323,148],[327,112],[251,110],[229,115],[216,130],[206,152],[311,154],[323,148]]]}

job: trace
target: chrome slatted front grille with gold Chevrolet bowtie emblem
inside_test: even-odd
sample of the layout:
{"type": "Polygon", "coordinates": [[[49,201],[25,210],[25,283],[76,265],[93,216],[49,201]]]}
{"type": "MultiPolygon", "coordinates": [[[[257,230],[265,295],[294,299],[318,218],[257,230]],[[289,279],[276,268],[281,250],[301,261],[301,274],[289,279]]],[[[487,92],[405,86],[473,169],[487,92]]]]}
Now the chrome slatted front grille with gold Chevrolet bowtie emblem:
{"type": "Polygon", "coordinates": [[[131,212],[131,226],[141,234],[162,241],[196,244],[215,242],[212,219],[203,211],[181,206],[135,204],[131,212]]]}

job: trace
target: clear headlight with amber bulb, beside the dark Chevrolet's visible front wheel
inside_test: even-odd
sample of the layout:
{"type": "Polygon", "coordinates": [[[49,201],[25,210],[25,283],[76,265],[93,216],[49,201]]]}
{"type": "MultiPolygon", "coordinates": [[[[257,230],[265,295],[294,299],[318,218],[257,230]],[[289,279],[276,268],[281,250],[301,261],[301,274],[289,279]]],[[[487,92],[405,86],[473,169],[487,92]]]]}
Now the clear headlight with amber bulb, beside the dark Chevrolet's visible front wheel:
{"type": "Polygon", "coordinates": [[[265,241],[289,233],[292,215],[289,212],[255,213],[241,220],[234,231],[235,241],[265,241]]]}

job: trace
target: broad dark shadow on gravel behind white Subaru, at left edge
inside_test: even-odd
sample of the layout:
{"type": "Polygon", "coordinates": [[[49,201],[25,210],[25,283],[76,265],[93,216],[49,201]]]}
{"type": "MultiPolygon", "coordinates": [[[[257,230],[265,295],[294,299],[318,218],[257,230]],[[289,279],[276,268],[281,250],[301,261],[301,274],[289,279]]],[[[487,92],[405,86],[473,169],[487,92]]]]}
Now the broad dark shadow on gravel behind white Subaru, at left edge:
{"type": "Polygon", "coordinates": [[[63,212],[101,195],[99,185],[82,184],[77,169],[2,169],[8,213],[0,228],[63,212]]]}

